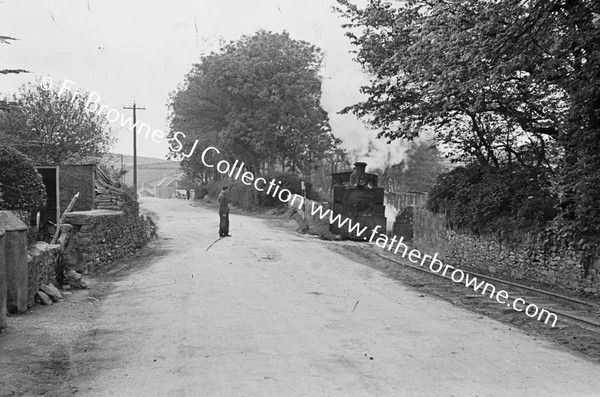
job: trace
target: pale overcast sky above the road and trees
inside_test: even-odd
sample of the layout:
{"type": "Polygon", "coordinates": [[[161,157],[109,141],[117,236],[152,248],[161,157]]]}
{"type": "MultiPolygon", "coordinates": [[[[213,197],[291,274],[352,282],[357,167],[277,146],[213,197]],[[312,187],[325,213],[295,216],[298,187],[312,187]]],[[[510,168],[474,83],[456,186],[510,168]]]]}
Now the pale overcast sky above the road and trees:
{"type": "MultiPolygon", "coordinates": [[[[359,0],[359,3],[363,0],[359,0]]],[[[0,96],[16,92],[36,78],[94,91],[101,102],[126,117],[133,101],[146,108],[138,119],[153,130],[168,128],[169,95],[202,54],[219,43],[251,35],[259,29],[288,31],[292,38],[319,46],[325,53],[321,75],[321,106],[328,112],[334,135],[355,161],[369,167],[403,159],[408,145],[387,145],[353,115],[339,115],[359,101],[368,81],[356,62],[350,40],[333,13],[335,0],[0,0],[0,35],[18,38],[0,46],[0,68],[31,73],[0,76],[0,96]],[[375,151],[367,156],[367,148],[375,151]]],[[[117,153],[131,154],[132,132],[111,125],[117,153]]],[[[185,132],[185,131],[184,131],[185,132]]],[[[160,140],[160,139],[157,139],[160,140]]],[[[168,143],[143,135],[138,155],[164,158],[168,143]]]]}

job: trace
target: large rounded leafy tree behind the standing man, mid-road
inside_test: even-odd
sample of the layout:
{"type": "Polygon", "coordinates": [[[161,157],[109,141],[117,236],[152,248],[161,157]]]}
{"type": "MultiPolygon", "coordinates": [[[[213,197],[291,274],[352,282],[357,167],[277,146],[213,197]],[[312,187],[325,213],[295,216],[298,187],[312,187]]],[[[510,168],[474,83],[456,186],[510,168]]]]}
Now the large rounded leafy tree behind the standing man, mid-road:
{"type": "Polygon", "coordinates": [[[321,61],[310,43],[262,30],[203,56],[171,96],[172,156],[202,175],[200,153],[188,158],[197,140],[253,172],[310,176],[334,145],[320,106],[321,61]]]}

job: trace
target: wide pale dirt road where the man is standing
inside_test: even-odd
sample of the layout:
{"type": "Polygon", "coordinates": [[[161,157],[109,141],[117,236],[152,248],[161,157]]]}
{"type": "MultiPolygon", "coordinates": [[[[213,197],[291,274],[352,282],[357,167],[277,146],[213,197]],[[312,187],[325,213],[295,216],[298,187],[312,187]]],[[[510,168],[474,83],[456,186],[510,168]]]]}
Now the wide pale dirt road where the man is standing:
{"type": "Polygon", "coordinates": [[[327,243],[146,199],[164,255],[118,280],[79,353],[82,395],[593,396],[600,367],[423,297],[327,243]]]}

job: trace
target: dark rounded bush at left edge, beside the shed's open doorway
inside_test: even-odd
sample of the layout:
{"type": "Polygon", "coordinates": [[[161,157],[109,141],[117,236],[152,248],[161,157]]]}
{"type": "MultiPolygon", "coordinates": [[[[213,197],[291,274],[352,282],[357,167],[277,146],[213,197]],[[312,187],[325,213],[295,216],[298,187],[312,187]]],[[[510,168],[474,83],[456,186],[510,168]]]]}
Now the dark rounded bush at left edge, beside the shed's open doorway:
{"type": "Polygon", "coordinates": [[[46,205],[42,176],[21,152],[0,146],[0,210],[35,212],[46,205]]]}

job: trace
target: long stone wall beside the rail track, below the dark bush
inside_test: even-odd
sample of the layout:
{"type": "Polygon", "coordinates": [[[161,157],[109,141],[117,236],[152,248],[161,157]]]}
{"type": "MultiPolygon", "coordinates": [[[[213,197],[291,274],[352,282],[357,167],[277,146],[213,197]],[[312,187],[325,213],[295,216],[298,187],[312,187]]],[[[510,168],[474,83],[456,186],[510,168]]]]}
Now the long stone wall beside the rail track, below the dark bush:
{"type": "Polygon", "coordinates": [[[414,244],[422,252],[439,253],[455,267],[527,284],[540,283],[553,290],[600,296],[600,260],[588,261],[571,246],[547,244],[536,236],[524,236],[507,244],[487,236],[452,230],[443,215],[414,209],[414,244]]]}

